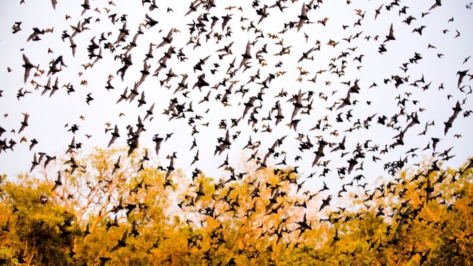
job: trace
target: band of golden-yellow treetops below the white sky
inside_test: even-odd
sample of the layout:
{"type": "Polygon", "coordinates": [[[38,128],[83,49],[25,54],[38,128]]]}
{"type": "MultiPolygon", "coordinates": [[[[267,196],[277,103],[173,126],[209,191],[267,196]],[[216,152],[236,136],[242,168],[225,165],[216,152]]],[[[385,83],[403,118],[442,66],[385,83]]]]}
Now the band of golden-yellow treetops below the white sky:
{"type": "Polygon", "coordinates": [[[343,207],[323,206],[328,192],[304,190],[291,168],[229,168],[214,180],[143,151],[76,157],[75,170],[58,162],[41,177],[2,176],[1,262],[472,265],[473,174],[465,167],[426,162],[370,189],[354,179],[343,207]]]}

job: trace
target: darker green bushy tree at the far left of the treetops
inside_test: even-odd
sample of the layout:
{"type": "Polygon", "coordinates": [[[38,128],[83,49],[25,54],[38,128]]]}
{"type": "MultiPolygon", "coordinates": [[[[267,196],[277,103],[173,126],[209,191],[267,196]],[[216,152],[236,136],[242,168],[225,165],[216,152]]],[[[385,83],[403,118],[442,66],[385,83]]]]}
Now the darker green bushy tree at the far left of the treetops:
{"type": "Polygon", "coordinates": [[[6,219],[1,220],[6,223],[10,219],[10,232],[3,231],[1,238],[7,252],[16,250],[16,256],[26,257],[26,261],[34,256],[42,265],[68,264],[67,248],[72,248],[79,227],[63,224],[73,214],[50,203],[46,184],[33,177],[20,177],[18,183],[4,182],[2,190],[1,214],[6,219]]]}

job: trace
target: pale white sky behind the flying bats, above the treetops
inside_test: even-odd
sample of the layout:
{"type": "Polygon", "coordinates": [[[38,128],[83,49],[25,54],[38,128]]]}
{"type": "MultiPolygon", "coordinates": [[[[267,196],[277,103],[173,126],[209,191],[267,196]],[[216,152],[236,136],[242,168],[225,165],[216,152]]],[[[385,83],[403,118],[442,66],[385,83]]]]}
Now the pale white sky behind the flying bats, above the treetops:
{"type": "MultiPolygon", "coordinates": [[[[276,2],[274,0],[215,1],[216,6],[208,10],[198,2],[193,4],[197,6],[196,11],[189,13],[189,6],[192,5],[190,1],[186,4],[181,1],[157,1],[158,8],[153,10],[149,3],[126,0],[94,0],[89,3],[90,9],[85,10],[79,1],[71,3],[59,0],[55,9],[49,0],[25,0],[24,3],[2,1],[0,126],[5,132],[0,140],[6,143],[14,140],[17,144],[13,150],[1,151],[0,173],[11,178],[16,173],[29,172],[33,155],[39,152],[67,159],[64,154],[73,138],[76,143],[83,143],[82,152],[95,147],[107,148],[113,130],[105,132],[105,129],[113,129],[114,125],[119,128],[120,137],[110,148],[124,147],[127,125],[136,130],[138,116],[143,119],[146,110],[153,104],[153,120],[143,122],[146,131],[140,134],[139,146],[147,148],[150,156],[157,158],[164,167],[169,164],[166,156],[175,152],[177,158],[174,166],[183,169],[189,178],[197,167],[207,175],[226,179],[228,171],[218,166],[227,155],[229,165],[237,172],[254,172],[260,167],[268,148],[284,136],[283,143],[276,148],[276,153],[281,155],[268,156],[266,165],[296,168],[301,178],[313,176],[305,186],[314,190],[320,189],[322,181],[325,181],[337,191],[347,180],[359,174],[363,174],[369,183],[374,183],[378,176],[389,179],[391,175],[385,170],[385,164],[404,158],[408,158],[406,166],[433,156],[442,165],[459,167],[471,156],[473,142],[469,137],[473,124],[467,111],[472,109],[472,81],[469,76],[465,76],[458,86],[457,75],[458,71],[467,70],[467,74],[473,74],[473,70],[469,71],[473,59],[467,60],[472,55],[473,41],[470,26],[473,11],[467,8],[469,1],[443,1],[441,6],[434,8],[431,8],[435,4],[434,0],[398,1],[399,5],[392,6],[390,1],[313,1],[308,10],[306,4],[309,5],[309,2],[287,0],[280,1],[285,7],[283,11],[277,6],[272,7],[276,2]],[[380,13],[375,19],[378,8],[380,13]],[[306,10],[309,23],[302,24],[298,30],[303,9],[306,10]],[[268,15],[260,21],[257,10],[268,15]],[[109,17],[113,14],[116,14],[114,22],[109,17]],[[120,29],[125,23],[125,20],[120,20],[122,15],[126,15],[129,34],[124,41],[119,41],[120,29]],[[146,24],[149,20],[147,16],[158,23],[154,26],[146,24]],[[202,20],[205,16],[208,21],[202,20]],[[231,19],[223,27],[224,16],[230,16],[231,19]],[[211,17],[218,18],[213,27],[211,17]],[[195,27],[193,25],[199,20],[205,25],[200,29],[205,31],[200,32],[196,27],[191,32],[189,29],[195,27]],[[410,25],[406,22],[409,20],[410,25]],[[21,22],[21,30],[13,33],[12,26],[16,22],[21,22]],[[290,22],[294,22],[293,28],[285,26],[290,22]],[[69,37],[63,40],[61,36],[63,32],[73,35],[73,28],[78,23],[82,27],[72,37],[77,45],[73,55],[69,37]],[[391,25],[395,40],[385,41],[391,25]],[[129,46],[139,27],[143,34],[139,34],[136,47],[125,53],[124,47],[129,46]],[[40,40],[27,41],[33,28],[40,31],[51,29],[51,32],[38,35],[40,40]],[[422,28],[422,34],[413,31],[419,28],[422,28]],[[157,47],[173,29],[176,31],[173,32],[171,44],[157,47]],[[102,33],[106,40],[99,41],[102,33]],[[95,61],[95,57],[90,59],[88,56],[87,47],[92,43],[91,40],[102,47],[102,58],[85,69],[84,65],[95,61]],[[105,49],[106,43],[110,43],[114,51],[105,49]],[[196,45],[198,43],[200,45],[196,45]],[[238,68],[248,43],[251,43],[248,68],[238,68]],[[129,93],[142,77],[140,71],[150,44],[155,45],[152,48],[154,57],[146,61],[151,74],[138,87],[140,95],[132,101],[117,103],[124,90],[128,88],[129,93]],[[225,52],[218,50],[230,44],[231,53],[222,56],[225,52]],[[378,52],[381,45],[386,48],[383,53],[378,52]],[[167,67],[160,70],[157,77],[152,76],[159,66],[159,58],[170,47],[174,47],[176,54],[166,62],[167,67]],[[281,53],[283,47],[287,50],[281,53]],[[177,53],[181,48],[185,56],[178,58],[177,53]],[[258,53],[264,48],[266,52],[258,53]],[[303,53],[311,48],[315,48],[308,55],[312,59],[299,62],[303,53]],[[418,59],[412,61],[416,54],[418,59]],[[23,55],[33,65],[39,65],[38,69],[32,68],[26,82],[23,55]],[[121,60],[124,55],[131,55],[132,64],[122,80],[117,71],[124,65],[121,60]],[[51,60],[59,56],[63,58],[62,70],[48,75],[51,60]],[[183,61],[184,57],[187,59],[183,61]],[[202,70],[194,70],[194,66],[206,57],[208,59],[202,64],[202,70]],[[234,60],[232,71],[227,71],[234,60]],[[177,77],[161,85],[160,81],[166,78],[170,69],[177,77]],[[230,75],[229,72],[234,74],[230,75]],[[188,87],[174,93],[185,74],[188,75],[188,87]],[[193,88],[198,76],[203,74],[209,85],[201,89],[193,88]],[[267,80],[270,75],[274,78],[267,80]],[[397,88],[394,85],[396,75],[397,79],[405,80],[397,88]],[[59,90],[50,97],[49,92],[41,95],[48,78],[51,78],[52,84],[57,78],[60,85],[59,90]],[[114,87],[110,91],[105,88],[109,78],[114,87]],[[223,80],[226,80],[224,85],[216,86],[223,80]],[[359,92],[350,93],[349,104],[341,107],[344,99],[347,101],[347,94],[355,81],[359,92]],[[265,82],[266,87],[263,86],[265,82]],[[349,85],[347,82],[350,82],[349,85]],[[66,84],[72,85],[75,91],[68,94],[63,87],[66,84]],[[223,104],[221,99],[231,84],[231,94],[223,104]],[[240,88],[247,90],[247,93],[237,93],[240,88]],[[23,93],[31,93],[17,98],[20,89],[23,93]],[[278,97],[282,91],[286,94],[278,97]],[[295,109],[291,99],[297,98],[299,92],[302,108],[291,119],[295,109]],[[145,94],[146,103],[138,106],[142,93],[145,94]],[[86,103],[87,94],[94,98],[89,104],[86,103]],[[209,100],[199,103],[207,94],[210,95],[209,100]],[[245,104],[258,95],[260,99],[254,101],[253,107],[243,117],[245,104]],[[189,109],[192,103],[192,110],[184,112],[184,118],[173,119],[163,113],[174,98],[185,109],[189,109]],[[277,110],[271,110],[278,101],[284,118],[276,125],[277,110]],[[452,109],[457,101],[461,111],[445,134],[444,123],[453,115],[452,109]],[[255,108],[258,106],[261,108],[255,108]],[[312,109],[309,110],[307,106],[312,109]],[[253,113],[253,117],[257,123],[252,126],[248,119],[255,109],[257,113],[253,113]],[[307,113],[307,110],[310,112],[307,113]],[[28,126],[18,132],[24,118],[22,113],[29,114],[28,126]],[[350,121],[347,114],[352,115],[350,121]],[[396,114],[400,114],[397,122],[390,123],[396,114]],[[414,115],[418,117],[419,124],[408,127],[414,115]],[[196,116],[201,119],[194,119],[195,123],[189,125],[189,118],[196,116]],[[378,118],[382,116],[386,116],[385,125],[378,123],[378,118]],[[371,121],[363,126],[369,117],[372,117],[371,121]],[[237,126],[231,127],[232,119],[241,120],[237,126]],[[296,129],[288,126],[297,120],[300,122],[296,129]],[[321,128],[314,129],[319,120],[321,128]],[[356,128],[358,120],[361,127],[356,128]],[[74,124],[79,126],[75,134],[68,131],[74,124]],[[194,125],[198,133],[192,136],[194,125]],[[406,128],[404,144],[390,147],[398,139],[396,136],[399,132],[406,128]],[[220,144],[218,138],[224,139],[227,129],[231,145],[221,154],[215,154],[216,146],[220,144]],[[422,134],[424,130],[425,134],[422,134]],[[159,134],[165,137],[170,133],[173,135],[162,142],[157,155],[154,152],[153,136],[159,134]],[[86,135],[91,137],[87,138],[86,135]],[[237,135],[236,139],[233,139],[233,135],[237,135]],[[23,137],[26,142],[21,142],[23,137]],[[243,149],[250,137],[253,143],[260,142],[259,148],[243,149]],[[197,146],[191,149],[194,138],[197,146]],[[345,150],[331,152],[344,138],[345,150]],[[441,139],[435,150],[432,138],[441,139]],[[30,151],[33,139],[38,143],[30,151]],[[317,161],[320,164],[314,165],[319,140],[327,141],[330,145],[322,149],[323,156],[317,161]],[[307,141],[313,147],[300,150],[300,145],[307,141]],[[367,143],[366,147],[364,143],[367,143]],[[359,154],[364,157],[357,159],[350,173],[337,173],[337,169],[348,168],[348,160],[354,158],[357,144],[361,146],[359,154]],[[454,157],[445,160],[446,156],[439,156],[450,147],[452,149],[448,155],[454,157]],[[382,152],[383,149],[386,152],[382,152]],[[190,165],[197,150],[199,161],[190,165]],[[410,150],[414,151],[409,153],[410,150]],[[256,151],[256,156],[261,160],[246,162],[256,151]],[[278,165],[283,161],[283,153],[285,163],[278,165]],[[297,156],[300,159],[296,160],[297,156]],[[324,162],[326,166],[323,166],[324,162]],[[320,176],[324,168],[330,172],[320,176]]],[[[99,49],[95,49],[95,54],[98,54],[99,49]]],[[[60,64],[57,67],[61,68],[60,64]]],[[[67,165],[63,167],[65,169],[67,165]]],[[[40,171],[39,168],[33,172],[40,171]]]]}

